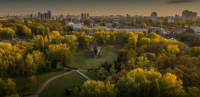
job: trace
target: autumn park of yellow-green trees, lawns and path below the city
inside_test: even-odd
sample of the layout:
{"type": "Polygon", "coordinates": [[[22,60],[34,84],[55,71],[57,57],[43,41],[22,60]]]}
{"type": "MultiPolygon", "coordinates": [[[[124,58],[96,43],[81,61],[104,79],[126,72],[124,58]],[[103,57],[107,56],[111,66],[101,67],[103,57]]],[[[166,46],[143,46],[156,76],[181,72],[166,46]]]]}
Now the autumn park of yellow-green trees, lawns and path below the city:
{"type": "Polygon", "coordinates": [[[199,37],[0,22],[1,97],[199,97],[199,37]]]}

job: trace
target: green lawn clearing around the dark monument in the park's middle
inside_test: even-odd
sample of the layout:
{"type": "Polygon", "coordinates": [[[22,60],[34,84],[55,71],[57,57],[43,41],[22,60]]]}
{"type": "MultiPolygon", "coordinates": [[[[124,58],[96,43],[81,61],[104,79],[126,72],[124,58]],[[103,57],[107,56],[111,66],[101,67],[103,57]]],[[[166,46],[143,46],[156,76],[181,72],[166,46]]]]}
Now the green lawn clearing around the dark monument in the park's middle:
{"type": "Polygon", "coordinates": [[[74,62],[72,67],[77,67],[80,70],[94,69],[95,65],[100,66],[102,62],[107,60],[109,63],[113,63],[117,59],[117,52],[121,48],[120,45],[103,46],[99,52],[98,57],[94,57],[92,51],[89,49],[78,49],[73,54],[74,62]]]}

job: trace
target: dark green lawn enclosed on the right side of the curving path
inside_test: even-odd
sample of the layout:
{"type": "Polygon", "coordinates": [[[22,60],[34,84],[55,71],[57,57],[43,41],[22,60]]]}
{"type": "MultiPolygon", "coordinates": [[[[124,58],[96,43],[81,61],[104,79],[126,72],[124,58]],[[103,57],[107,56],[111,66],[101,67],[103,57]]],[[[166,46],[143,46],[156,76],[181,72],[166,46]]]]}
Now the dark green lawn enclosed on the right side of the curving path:
{"type": "Polygon", "coordinates": [[[52,80],[39,97],[63,97],[66,89],[80,87],[87,79],[77,72],[52,80]]]}

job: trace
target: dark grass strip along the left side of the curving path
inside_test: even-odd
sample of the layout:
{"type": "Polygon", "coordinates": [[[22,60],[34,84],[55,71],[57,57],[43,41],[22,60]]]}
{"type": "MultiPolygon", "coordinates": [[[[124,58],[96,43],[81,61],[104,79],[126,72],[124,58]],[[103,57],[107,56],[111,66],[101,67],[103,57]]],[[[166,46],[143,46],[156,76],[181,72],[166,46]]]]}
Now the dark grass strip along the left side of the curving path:
{"type": "Polygon", "coordinates": [[[59,74],[63,74],[67,72],[66,70],[62,70],[62,71],[58,71],[58,72],[49,72],[49,73],[43,73],[41,75],[37,75],[36,79],[37,79],[37,83],[36,84],[27,84],[27,79],[28,77],[13,77],[12,79],[15,81],[16,83],[16,89],[19,95],[27,95],[27,94],[35,94],[37,92],[37,90],[39,90],[39,88],[50,78],[59,75],[59,74]],[[22,93],[21,90],[24,87],[30,87],[28,92],[22,93]]]}

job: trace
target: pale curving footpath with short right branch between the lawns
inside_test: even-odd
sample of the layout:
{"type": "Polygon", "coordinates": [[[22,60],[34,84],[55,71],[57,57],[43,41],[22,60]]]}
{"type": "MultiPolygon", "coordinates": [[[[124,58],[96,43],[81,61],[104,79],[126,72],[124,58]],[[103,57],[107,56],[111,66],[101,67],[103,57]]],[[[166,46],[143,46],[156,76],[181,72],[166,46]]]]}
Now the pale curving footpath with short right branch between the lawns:
{"type": "Polygon", "coordinates": [[[74,72],[74,71],[78,72],[80,75],[82,75],[83,77],[85,77],[86,79],[88,79],[88,80],[91,81],[91,79],[90,79],[89,77],[87,77],[86,75],[84,75],[83,73],[80,72],[80,71],[85,71],[85,70],[80,70],[80,71],[79,71],[79,70],[72,70],[72,71],[70,71],[70,72],[66,72],[66,73],[63,73],[63,74],[60,74],[60,75],[57,75],[57,76],[54,76],[54,77],[48,79],[48,80],[42,85],[42,87],[36,92],[35,95],[30,95],[30,96],[26,96],[26,97],[38,97],[38,96],[40,95],[40,93],[42,93],[42,91],[45,89],[45,87],[46,87],[52,80],[54,80],[54,79],[56,79],[56,78],[58,78],[58,77],[67,75],[67,74],[69,74],[69,73],[71,73],[71,72],[74,72]]]}

